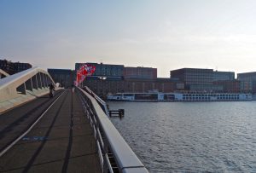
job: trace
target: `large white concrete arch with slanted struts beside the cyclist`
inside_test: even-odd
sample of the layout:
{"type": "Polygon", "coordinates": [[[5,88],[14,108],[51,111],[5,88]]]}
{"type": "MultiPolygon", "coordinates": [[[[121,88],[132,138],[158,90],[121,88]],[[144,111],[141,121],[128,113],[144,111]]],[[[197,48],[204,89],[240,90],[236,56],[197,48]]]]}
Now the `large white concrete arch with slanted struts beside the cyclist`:
{"type": "Polygon", "coordinates": [[[49,92],[54,84],[49,73],[33,67],[0,79],[0,113],[49,92]]]}

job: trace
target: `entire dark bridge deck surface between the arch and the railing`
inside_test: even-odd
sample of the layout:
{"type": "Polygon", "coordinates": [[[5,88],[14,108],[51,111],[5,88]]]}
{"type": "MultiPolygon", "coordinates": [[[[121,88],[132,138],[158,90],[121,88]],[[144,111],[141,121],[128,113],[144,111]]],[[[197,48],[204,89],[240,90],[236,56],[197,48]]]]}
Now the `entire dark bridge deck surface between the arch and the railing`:
{"type": "Polygon", "coordinates": [[[58,101],[38,124],[3,154],[0,172],[101,172],[90,123],[84,117],[78,95],[71,89],[53,99],[38,98],[0,115],[1,151],[58,95],[58,101]]]}

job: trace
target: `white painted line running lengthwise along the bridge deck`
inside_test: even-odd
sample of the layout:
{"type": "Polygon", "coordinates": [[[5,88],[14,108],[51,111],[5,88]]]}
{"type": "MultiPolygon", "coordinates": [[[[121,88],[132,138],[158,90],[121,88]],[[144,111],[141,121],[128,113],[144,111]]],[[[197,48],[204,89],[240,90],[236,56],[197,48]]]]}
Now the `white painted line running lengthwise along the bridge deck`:
{"type": "MultiPolygon", "coordinates": [[[[66,91],[67,91],[67,90],[65,90],[63,93],[61,93],[61,95],[63,95],[64,93],[66,93],[66,91]]],[[[44,111],[44,113],[42,113],[42,115],[37,119],[37,121],[36,121],[35,123],[32,124],[32,126],[30,126],[30,128],[29,128],[28,130],[26,130],[20,137],[18,137],[15,141],[13,141],[8,147],[6,147],[6,148],[0,153],[0,158],[3,156],[4,153],[6,153],[6,152],[8,151],[11,147],[13,147],[18,141],[20,141],[20,139],[21,139],[22,137],[26,136],[26,134],[27,134],[28,132],[30,132],[30,131],[32,130],[32,128],[33,128],[36,124],[38,124],[38,121],[39,121],[41,118],[44,117],[44,114],[45,114],[46,112],[48,112],[49,108],[52,107],[52,106],[55,104],[56,101],[59,100],[59,98],[61,97],[61,95],[58,96],[58,98],[56,98],[56,100],[44,111]]]]}

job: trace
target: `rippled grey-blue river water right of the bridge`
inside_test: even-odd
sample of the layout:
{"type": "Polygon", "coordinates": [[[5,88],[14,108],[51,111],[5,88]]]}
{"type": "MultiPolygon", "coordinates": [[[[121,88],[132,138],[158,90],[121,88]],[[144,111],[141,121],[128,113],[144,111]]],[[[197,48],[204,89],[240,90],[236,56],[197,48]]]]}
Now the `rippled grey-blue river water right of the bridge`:
{"type": "Polygon", "coordinates": [[[256,172],[256,101],[108,102],[111,118],[152,173],[256,172]]]}

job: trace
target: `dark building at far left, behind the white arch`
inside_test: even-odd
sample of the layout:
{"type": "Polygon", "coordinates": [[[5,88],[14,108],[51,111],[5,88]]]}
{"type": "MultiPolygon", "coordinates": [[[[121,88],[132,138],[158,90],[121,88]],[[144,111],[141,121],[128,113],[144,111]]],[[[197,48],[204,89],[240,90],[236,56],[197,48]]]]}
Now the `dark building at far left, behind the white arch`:
{"type": "Polygon", "coordinates": [[[10,75],[15,74],[17,72],[25,71],[29,68],[32,68],[32,65],[29,63],[0,60],[0,69],[2,69],[4,72],[9,73],[10,75]]]}

